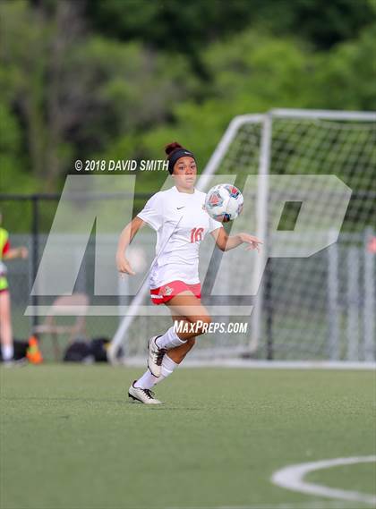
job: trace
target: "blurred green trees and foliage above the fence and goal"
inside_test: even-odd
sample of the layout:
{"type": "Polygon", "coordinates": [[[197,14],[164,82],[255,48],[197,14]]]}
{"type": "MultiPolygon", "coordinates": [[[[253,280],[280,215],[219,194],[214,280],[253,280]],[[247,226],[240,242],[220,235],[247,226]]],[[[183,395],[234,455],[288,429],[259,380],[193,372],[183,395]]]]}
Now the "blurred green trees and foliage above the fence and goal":
{"type": "Polygon", "coordinates": [[[376,106],[375,0],[4,0],[0,20],[1,192],[172,140],[202,168],[239,114],[376,106]]]}

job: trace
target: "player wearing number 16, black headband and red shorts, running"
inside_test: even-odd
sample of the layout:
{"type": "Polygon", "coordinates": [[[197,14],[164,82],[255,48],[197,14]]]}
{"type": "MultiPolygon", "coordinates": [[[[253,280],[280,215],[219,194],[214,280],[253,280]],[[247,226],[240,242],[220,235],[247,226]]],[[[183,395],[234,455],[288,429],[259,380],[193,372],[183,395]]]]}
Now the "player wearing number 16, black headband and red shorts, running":
{"type": "Polygon", "coordinates": [[[197,191],[196,160],[190,150],[179,143],[166,148],[168,172],[175,186],[159,191],[145,208],[126,225],[120,235],[116,252],[117,269],[134,275],[125,251],[141,226],[147,223],[157,231],[156,259],[150,269],[150,297],[154,304],[165,304],[173,322],[194,324],[190,332],[175,332],[170,327],[163,335],[149,340],[148,369],[132,383],[128,395],[146,404],[161,403],[151,388],[167,378],[192,349],[195,337],[208,327],[211,318],[201,303],[199,249],[203,238],[211,233],[220,250],[232,250],[246,242],[248,249],[259,249],[262,242],[248,233],[228,236],[221,223],[204,209],[205,193],[197,191]]]}

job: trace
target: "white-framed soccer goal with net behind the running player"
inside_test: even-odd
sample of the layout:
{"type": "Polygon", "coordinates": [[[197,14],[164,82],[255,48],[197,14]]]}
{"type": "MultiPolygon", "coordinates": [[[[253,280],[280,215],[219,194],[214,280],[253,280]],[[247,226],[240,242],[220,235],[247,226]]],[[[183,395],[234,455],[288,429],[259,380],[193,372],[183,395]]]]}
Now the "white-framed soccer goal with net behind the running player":
{"type": "MultiPolygon", "coordinates": [[[[248,327],[202,336],[190,357],[374,361],[375,141],[371,113],[272,110],[234,119],[198,187],[235,183],[244,214],[230,230],[256,233],[264,247],[247,258],[242,247],[222,255],[205,240],[203,301],[219,305],[215,320],[248,327]]],[[[139,242],[152,249],[155,236],[139,242]]],[[[147,339],[171,326],[166,311],[138,316],[148,303],[145,283],[112,353],[122,345],[128,358],[143,355],[147,339]]]]}

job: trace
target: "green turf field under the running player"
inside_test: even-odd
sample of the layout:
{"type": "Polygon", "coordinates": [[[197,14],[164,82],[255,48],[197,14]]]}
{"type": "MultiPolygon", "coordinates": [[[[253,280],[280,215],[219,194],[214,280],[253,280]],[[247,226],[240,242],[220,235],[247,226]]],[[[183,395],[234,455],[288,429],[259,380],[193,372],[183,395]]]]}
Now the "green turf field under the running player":
{"type": "MultiPolygon", "coordinates": [[[[180,369],[164,405],[128,403],[140,369],[1,369],[2,509],[363,508],[270,482],[289,464],[375,454],[375,373],[180,369]]],[[[376,491],[375,463],[312,472],[376,491]]]]}

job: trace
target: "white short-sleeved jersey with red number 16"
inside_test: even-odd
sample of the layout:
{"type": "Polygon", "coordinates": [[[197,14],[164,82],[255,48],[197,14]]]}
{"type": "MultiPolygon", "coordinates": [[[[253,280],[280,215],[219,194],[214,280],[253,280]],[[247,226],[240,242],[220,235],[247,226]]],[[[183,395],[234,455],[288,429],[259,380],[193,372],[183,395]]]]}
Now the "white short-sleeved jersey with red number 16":
{"type": "Polygon", "coordinates": [[[200,283],[199,249],[206,233],[221,228],[204,210],[206,194],[188,194],[176,187],[159,191],[147,202],[139,216],[157,232],[157,260],[150,270],[150,288],[172,281],[200,283]]]}

